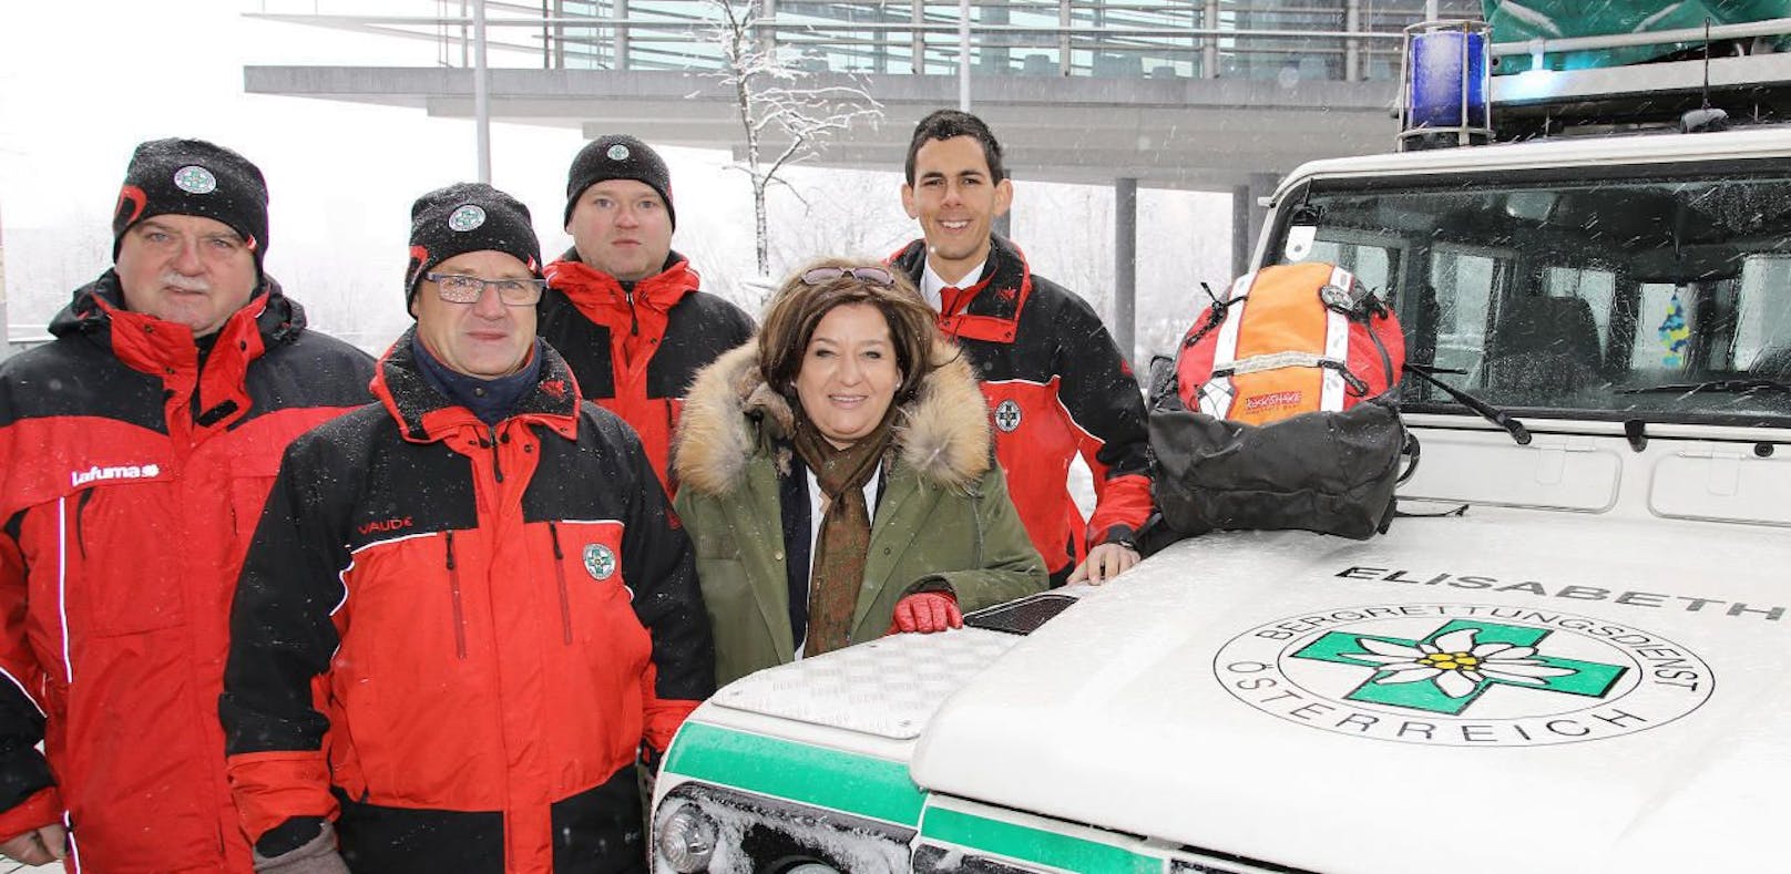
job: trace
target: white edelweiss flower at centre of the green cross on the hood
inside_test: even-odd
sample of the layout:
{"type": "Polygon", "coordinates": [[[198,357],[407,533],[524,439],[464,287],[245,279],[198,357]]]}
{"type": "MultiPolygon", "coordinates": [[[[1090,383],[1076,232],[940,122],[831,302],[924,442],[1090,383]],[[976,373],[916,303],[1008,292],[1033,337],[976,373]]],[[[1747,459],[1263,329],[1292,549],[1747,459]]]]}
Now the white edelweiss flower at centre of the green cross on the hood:
{"type": "Polygon", "coordinates": [[[1535,657],[1535,647],[1474,643],[1478,632],[1479,629],[1460,629],[1433,643],[1420,641],[1415,647],[1361,638],[1358,645],[1368,652],[1350,652],[1349,656],[1381,666],[1384,673],[1375,677],[1375,684],[1431,681],[1451,698],[1472,695],[1488,679],[1521,686],[1546,686],[1547,677],[1574,673],[1572,668],[1544,664],[1542,659],[1535,657]]]}

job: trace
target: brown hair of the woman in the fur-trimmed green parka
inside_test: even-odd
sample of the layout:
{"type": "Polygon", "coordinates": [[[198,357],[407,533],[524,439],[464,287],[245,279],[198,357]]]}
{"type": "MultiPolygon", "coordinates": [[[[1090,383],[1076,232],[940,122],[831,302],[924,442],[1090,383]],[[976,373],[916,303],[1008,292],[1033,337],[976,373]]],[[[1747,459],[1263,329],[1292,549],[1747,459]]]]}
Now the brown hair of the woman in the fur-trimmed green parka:
{"type": "Polygon", "coordinates": [[[938,315],[921,297],[913,283],[881,261],[854,258],[822,258],[802,265],[777,288],[765,308],[759,326],[759,371],[765,381],[786,398],[795,398],[795,378],[802,371],[802,356],[815,337],[820,319],[836,306],[865,303],[883,313],[890,328],[890,346],[896,347],[896,365],[901,367],[901,385],[896,403],[904,403],[921,389],[921,380],[955,356],[938,333],[938,315]],[[802,274],[818,267],[874,269],[890,276],[890,285],[879,285],[853,274],[840,274],[820,285],[810,285],[802,274]]]}

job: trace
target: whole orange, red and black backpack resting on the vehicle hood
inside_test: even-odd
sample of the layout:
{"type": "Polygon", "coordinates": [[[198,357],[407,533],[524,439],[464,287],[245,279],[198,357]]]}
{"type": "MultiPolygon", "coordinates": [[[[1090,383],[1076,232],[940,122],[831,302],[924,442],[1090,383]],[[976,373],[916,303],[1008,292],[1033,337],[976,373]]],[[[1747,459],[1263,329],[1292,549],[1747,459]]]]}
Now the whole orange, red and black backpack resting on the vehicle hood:
{"type": "Polygon", "coordinates": [[[1175,360],[1152,365],[1159,519],[1144,541],[1223,528],[1384,532],[1399,458],[1417,458],[1388,396],[1404,358],[1399,321],[1349,270],[1293,263],[1234,281],[1175,360]]]}

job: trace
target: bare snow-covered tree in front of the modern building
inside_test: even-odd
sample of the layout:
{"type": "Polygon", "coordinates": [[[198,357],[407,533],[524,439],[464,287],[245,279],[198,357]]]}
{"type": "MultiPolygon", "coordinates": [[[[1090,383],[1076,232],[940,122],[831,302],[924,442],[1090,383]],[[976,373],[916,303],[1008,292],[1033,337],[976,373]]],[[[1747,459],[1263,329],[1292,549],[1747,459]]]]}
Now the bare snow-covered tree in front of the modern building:
{"type": "Polygon", "coordinates": [[[777,56],[759,36],[758,0],[709,0],[715,13],[711,39],[722,50],[716,77],[733,91],[745,134],[745,158],[736,167],[752,183],[752,220],[759,276],[770,276],[770,231],[765,195],[783,184],[792,163],[815,158],[827,140],[854,124],[883,118],[861,77],[815,72],[777,56]]]}

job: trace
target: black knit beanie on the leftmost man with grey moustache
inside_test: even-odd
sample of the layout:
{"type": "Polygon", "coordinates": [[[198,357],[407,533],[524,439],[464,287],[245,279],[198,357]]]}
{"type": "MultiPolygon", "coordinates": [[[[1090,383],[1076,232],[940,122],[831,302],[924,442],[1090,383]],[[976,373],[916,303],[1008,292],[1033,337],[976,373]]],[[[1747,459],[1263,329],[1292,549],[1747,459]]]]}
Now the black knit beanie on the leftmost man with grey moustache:
{"type": "Polygon", "coordinates": [[[242,235],[261,270],[267,254],[267,179],[247,158],[204,140],[150,140],[136,147],[113,208],[113,260],[124,233],[156,215],[199,215],[242,235]]]}

